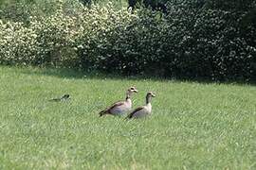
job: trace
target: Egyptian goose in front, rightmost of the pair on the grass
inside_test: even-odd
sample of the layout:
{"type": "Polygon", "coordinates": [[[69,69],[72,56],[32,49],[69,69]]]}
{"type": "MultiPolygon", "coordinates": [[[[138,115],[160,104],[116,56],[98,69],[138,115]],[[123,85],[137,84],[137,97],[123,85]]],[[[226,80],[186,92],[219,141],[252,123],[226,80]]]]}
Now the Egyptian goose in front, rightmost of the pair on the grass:
{"type": "Polygon", "coordinates": [[[151,106],[151,99],[152,97],[155,97],[155,94],[152,92],[147,93],[146,95],[146,105],[138,107],[137,109],[133,110],[126,119],[132,119],[132,118],[142,118],[146,117],[147,115],[151,114],[152,106],[151,106]]]}

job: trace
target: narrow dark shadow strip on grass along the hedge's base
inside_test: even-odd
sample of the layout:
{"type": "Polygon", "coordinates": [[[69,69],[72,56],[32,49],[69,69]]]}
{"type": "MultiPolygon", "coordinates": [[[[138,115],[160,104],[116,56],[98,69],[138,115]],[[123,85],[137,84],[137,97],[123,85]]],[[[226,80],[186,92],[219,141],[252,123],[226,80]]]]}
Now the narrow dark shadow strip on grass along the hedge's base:
{"type": "MultiPolygon", "coordinates": [[[[11,67],[9,67],[11,68],[11,67]]],[[[16,67],[17,68],[17,67],[16,67]]],[[[120,76],[119,74],[107,74],[99,71],[82,71],[69,68],[39,68],[39,67],[18,67],[22,74],[38,76],[57,76],[61,78],[91,78],[91,79],[129,79],[129,80],[151,80],[151,81],[175,81],[175,82],[193,82],[200,84],[229,84],[229,85],[249,85],[255,86],[256,81],[216,81],[208,77],[183,78],[183,77],[161,77],[161,76],[120,76]]]]}

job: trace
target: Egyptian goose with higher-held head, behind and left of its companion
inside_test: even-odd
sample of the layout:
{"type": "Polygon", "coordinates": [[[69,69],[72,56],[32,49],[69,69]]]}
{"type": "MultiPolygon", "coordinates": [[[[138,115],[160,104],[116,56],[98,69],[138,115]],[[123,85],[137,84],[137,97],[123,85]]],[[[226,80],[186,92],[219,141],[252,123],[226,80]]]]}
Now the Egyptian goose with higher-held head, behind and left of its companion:
{"type": "Polygon", "coordinates": [[[137,93],[137,89],[135,87],[131,87],[126,92],[126,99],[124,101],[118,101],[106,108],[105,110],[101,110],[100,117],[104,114],[112,114],[112,115],[122,115],[125,112],[132,109],[132,100],[131,96],[133,93],[137,93]]]}

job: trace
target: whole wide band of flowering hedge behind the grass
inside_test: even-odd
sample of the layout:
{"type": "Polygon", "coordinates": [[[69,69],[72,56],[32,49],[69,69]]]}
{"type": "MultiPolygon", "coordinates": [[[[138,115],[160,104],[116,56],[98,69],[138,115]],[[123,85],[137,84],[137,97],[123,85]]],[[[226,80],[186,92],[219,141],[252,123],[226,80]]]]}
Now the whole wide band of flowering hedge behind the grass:
{"type": "Polygon", "coordinates": [[[256,78],[252,0],[243,6],[234,1],[229,8],[218,1],[169,0],[167,14],[71,2],[51,2],[47,15],[42,15],[44,8],[23,8],[26,15],[19,21],[2,10],[0,62],[125,75],[256,78]]]}

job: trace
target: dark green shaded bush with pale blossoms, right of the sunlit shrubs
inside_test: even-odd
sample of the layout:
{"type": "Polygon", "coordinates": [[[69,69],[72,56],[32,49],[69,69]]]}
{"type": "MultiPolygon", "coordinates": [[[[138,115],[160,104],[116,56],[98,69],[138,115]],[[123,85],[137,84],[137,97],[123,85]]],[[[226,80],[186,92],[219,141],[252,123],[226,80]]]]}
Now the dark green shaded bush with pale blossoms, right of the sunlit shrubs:
{"type": "MultiPolygon", "coordinates": [[[[220,80],[255,76],[255,42],[243,37],[241,15],[198,8],[191,1],[172,3],[168,16],[141,9],[130,21],[113,20],[110,28],[98,30],[97,39],[82,41],[88,47],[82,57],[97,69],[128,75],[220,80]]],[[[103,23],[109,21],[106,17],[103,23]]],[[[248,32],[255,35],[255,27],[248,32]]]]}

